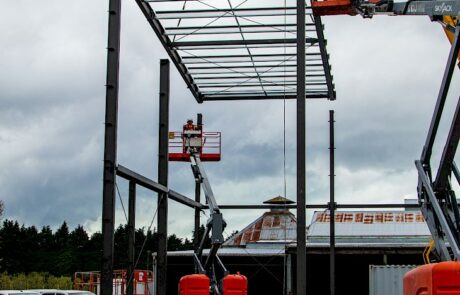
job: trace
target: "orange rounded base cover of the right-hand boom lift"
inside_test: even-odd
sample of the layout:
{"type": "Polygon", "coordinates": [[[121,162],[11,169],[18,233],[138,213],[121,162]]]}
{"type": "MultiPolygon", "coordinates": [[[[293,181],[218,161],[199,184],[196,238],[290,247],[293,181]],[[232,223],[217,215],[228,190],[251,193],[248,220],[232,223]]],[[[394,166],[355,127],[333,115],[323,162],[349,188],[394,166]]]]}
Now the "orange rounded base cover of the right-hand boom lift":
{"type": "Polygon", "coordinates": [[[426,264],[404,275],[404,295],[460,295],[460,262],[426,264]]]}

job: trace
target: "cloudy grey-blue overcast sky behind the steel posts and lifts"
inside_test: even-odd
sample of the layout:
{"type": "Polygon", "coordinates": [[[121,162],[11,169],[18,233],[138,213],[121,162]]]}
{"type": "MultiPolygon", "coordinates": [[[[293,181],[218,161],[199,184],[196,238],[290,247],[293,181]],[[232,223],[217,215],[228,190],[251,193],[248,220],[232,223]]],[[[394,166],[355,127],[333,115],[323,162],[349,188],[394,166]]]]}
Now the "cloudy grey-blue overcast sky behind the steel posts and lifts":
{"type": "MultiPolygon", "coordinates": [[[[0,199],[4,218],[100,231],[108,1],[1,0],[0,199]]],[[[118,162],[156,179],[159,59],[166,53],[134,1],[123,1],[118,162]]],[[[337,101],[307,102],[307,203],[329,198],[328,111],[336,111],[340,203],[416,197],[422,151],[449,52],[428,17],[323,18],[337,101]]],[[[206,164],[220,204],[260,204],[283,194],[283,102],[197,104],[172,66],[172,130],[203,113],[221,131],[223,159],[206,164]]],[[[455,73],[437,150],[455,100],[455,73]]],[[[296,198],[295,102],[287,102],[287,196],[296,198]]],[[[437,153],[439,154],[439,152],[437,153]]],[[[436,166],[439,157],[434,157],[436,166]]],[[[193,196],[184,163],[170,187],[193,196]]],[[[127,184],[119,180],[127,204],[127,184]]],[[[137,226],[156,195],[138,190],[137,226]]],[[[117,223],[125,222],[117,199],[117,223]]],[[[227,232],[263,211],[225,211],[227,232]]],[[[311,212],[310,212],[311,214],[311,212]]],[[[170,231],[190,236],[193,211],[170,203],[170,231]]],[[[203,218],[204,220],[204,218],[203,218]]],[[[309,222],[309,221],[308,221],[309,222]]]]}

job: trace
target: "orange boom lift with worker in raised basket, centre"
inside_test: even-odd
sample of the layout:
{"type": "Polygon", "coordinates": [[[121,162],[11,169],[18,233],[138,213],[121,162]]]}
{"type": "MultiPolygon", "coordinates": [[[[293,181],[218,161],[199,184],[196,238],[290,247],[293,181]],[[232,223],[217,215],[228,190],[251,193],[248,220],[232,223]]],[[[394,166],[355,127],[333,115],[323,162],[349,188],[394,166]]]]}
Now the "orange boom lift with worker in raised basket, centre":
{"type": "Polygon", "coordinates": [[[247,294],[247,279],[245,276],[230,275],[220,260],[217,252],[224,242],[223,232],[226,222],[220,212],[206,175],[202,161],[219,161],[220,132],[203,132],[201,114],[198,114],[198,124],[191,119],[183,125],[182,132],[170,132],[170,147],[181,149],[180,152],[169,153],[170,161],[190,161],[195,181],[201,184],[210,217],[206,230],[201,238],[198,249],[193,254],[195,273],[181,278],[179,295],[217,295],[217,294],[247,294]],[[177,141],[177,138],[180,141],[177,141]],[[208,139],[210,139],[208,141],[208,139]],[[178,144],[179,143],[179,144],[178,144]],[[205,150],[211,150],[205,152],[205,150]],[[206,238],[211,234],[211,249],[204,259],[203,250],[206,238]]]}

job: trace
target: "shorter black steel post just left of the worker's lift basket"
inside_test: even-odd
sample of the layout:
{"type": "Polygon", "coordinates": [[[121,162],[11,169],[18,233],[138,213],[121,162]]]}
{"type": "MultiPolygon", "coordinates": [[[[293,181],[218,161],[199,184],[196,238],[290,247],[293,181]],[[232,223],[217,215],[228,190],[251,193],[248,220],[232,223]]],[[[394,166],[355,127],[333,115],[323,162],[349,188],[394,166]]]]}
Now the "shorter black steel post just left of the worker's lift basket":
{"type": "MultiPolygon", "coordinates": [[[[158,135],[158,183],[168,186],[169,60],[160,61],[160,127],[158,135]]],[[[157,295],[166,295],[168,196],[158,193],[157,295]]]]}

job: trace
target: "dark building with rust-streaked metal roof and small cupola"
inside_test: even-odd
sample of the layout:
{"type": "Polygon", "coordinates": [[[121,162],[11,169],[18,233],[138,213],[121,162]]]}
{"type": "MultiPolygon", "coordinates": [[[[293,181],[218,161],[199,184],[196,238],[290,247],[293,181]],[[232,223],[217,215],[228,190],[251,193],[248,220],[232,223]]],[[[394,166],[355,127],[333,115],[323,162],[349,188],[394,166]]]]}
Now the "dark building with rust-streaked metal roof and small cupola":
{"type": "MultiPolygon", "coordinates": [[[[278,202],[289,202],[275,198],[278,202]]],[[[277,203],[279,204],[279,203],[277,203]]],[[[307,228],[307,290],[328,292],[329,221],[315,212],[307,228]]],[[[336,295],[369,294],[370,265],[417,265],[430,232],[419,211],[337,211],[336,295]],[[350,275],[356,283],[350,284],[350,275]]],[[[272,209],[229,238],[219,251],[231,272],[249,279],[250,294],[288,294],[296,271],[296,218],[288,209],[272,209]]],[[[192,252],[168,254],[169,278],[193,272],[192,252]]],[[[169,279],[168,279],[169,281],[169,279]]]]}

